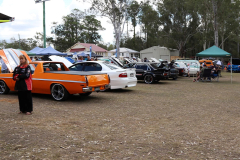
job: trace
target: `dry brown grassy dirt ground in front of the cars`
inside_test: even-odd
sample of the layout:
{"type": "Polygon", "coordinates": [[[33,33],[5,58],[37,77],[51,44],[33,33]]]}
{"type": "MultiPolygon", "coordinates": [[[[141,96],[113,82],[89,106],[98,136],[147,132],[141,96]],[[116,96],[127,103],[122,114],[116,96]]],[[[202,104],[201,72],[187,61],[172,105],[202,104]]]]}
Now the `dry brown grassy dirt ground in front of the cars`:
{"type": "Polygon", "coordinates": [[[0,159],[240,159],[240,73],[73,95],[33,94],[18,114],[15,92],[0,95],[0,159]]]}

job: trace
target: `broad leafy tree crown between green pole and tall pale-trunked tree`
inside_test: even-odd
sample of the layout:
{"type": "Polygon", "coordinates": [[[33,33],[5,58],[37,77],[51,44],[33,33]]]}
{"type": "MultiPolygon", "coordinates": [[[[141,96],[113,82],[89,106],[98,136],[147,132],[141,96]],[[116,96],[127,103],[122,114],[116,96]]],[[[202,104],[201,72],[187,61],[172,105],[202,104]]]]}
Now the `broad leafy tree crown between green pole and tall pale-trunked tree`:
{"type": "Polygon", "coordinates": [[[63,24],[53,24],[52,33],[55,38],[50,40],[55,49],[62,52],[77,42],[97,43],[101,39],[97,31],[104,29],[94,15],[85,15],[78,9],[64,16],[63,24]]]}

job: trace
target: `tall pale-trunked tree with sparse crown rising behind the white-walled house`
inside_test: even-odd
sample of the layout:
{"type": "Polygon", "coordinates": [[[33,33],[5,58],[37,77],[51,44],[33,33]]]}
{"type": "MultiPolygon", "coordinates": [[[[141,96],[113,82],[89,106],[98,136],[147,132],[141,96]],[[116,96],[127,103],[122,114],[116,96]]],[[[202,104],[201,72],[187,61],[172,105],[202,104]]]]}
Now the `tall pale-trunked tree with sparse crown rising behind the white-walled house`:
{"type": "Polygon", "coordinates": [[[120,39],[127,19],[130,0],[89,0],[92,4],[91,9],[107,17],[114,28],[117,57],[119,57],[120,39]]]}

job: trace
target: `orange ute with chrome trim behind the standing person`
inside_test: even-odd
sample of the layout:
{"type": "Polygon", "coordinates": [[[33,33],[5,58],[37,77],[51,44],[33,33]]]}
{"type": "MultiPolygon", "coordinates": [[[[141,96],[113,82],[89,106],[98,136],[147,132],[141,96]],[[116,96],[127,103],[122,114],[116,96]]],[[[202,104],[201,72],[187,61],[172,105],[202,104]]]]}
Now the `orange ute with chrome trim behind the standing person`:
{"type": "MultiPolygon", "coordinates": [[[[109,76],[97,72],[74,72],[62,62],[30,62],[32,71],[32,93],[51,94],[57,100],[65,100],[70,94],[90,95],[110,87],[109,76]]],[[[14,91],[12,73],[0,74],[0,94],[14,91]]]]}

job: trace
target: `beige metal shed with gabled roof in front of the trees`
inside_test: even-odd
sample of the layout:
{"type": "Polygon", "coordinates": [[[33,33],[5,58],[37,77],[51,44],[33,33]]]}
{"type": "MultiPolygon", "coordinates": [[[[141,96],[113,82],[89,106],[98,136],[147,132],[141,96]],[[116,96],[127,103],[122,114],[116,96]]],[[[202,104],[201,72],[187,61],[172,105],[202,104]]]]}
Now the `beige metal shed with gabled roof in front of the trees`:
{"type": "Polygon", "coordinates": [[[145,57],[147,59],[156,58],[171,61],[179,57],[179,51],[177,49],[153,46],[140,51],[140,58],[144,59],[145,57]]]}

